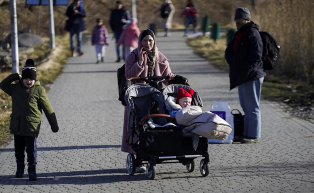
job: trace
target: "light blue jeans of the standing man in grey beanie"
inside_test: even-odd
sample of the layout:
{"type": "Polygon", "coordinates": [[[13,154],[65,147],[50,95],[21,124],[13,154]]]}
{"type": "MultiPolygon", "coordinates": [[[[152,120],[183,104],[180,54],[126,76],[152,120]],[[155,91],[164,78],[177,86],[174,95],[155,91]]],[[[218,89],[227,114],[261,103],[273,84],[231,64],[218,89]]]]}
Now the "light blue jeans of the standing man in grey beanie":
{"type": "Polygon", "coordinates": [[[261,111],[259,102],[264,77],[238,86],[240,105],[245,113],[243,136],[261,137],[261,111]]]}

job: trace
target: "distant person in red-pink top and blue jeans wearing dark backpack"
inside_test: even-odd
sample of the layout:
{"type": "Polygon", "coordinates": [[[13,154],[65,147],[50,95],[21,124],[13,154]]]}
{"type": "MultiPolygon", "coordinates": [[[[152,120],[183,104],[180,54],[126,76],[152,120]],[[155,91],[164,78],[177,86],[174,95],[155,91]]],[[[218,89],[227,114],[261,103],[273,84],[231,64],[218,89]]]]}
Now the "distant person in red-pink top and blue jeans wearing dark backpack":
{"type": "Polygon", "coordinates": [[[187,5],[185,6],[184,11],[181,13],[181,17],[185,15],[185,31],[184,31],[184,37],[187,37],[187,34],[189,33],[189,25],[193,25],[193,32],[194,34],[197,33],[197,12],[195,8],[195,4],[193,0],[187,0],[187,5]]]}

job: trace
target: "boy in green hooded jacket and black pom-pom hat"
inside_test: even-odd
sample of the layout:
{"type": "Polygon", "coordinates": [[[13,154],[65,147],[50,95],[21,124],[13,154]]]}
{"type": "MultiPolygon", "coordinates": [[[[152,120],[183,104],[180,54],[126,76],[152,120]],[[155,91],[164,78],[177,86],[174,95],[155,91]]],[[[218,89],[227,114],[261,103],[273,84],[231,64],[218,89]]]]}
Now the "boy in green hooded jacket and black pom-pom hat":
{"type": "Polygon", "coordinates": [[[34,61],[28,59],[22,69],[22,76],[11,74],[3,79],[0,88],[12,98],[10,133],[14,134],[14,150],[17,163],[15,177],[24,174],[24,151],[26,147],[29,180],[37,180],[36,175],[36,141],[44,111],[52,132],[58,132],[56,115],[47,98],[45,88],[36,80],[34,61]],[[18,83],[11,84],[14,81],[18,83]]]}

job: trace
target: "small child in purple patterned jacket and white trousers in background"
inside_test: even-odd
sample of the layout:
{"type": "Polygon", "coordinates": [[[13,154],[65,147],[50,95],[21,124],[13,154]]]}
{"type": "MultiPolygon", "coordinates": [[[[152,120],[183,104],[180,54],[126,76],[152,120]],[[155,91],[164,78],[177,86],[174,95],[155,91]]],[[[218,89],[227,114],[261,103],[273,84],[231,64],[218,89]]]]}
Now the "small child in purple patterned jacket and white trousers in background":
{"type": "Polygon", "coordinates": [[[98,64],[100,61],[104,62],[104,57],[105,57],[105,51],[106,51],[106,46],[108,46],[108,34],[107,34],[107,29],[106,26],[103,23],[102,19],[97,19],[96,20],[97,24],[93,29],[93,34],[92,34],[92,45],[95,45],[95,50],[96,50],[96,59],[98,64]]]}

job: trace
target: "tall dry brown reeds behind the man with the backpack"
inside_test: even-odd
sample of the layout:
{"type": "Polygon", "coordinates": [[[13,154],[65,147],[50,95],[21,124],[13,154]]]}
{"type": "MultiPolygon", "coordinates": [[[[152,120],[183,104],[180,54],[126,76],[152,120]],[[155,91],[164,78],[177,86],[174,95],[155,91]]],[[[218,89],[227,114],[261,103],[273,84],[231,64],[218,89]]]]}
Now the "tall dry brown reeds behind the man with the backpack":
{"type": "Polygon", "coordinates": [[[253,13],[261,29],[273,34],[281,47],[271,73],[314,88],[313,7],[312,0],[259,0],[253,13]]]}

